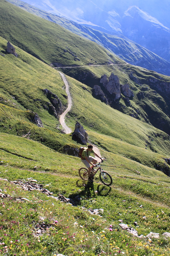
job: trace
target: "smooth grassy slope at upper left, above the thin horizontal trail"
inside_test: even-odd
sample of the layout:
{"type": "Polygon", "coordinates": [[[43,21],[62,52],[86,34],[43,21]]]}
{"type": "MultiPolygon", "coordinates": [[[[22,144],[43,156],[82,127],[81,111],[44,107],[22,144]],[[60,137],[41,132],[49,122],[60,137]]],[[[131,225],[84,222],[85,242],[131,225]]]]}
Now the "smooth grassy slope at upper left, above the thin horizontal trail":
{"type": "Polygon", "coordinates": [[[89,62],[104,64],[109,60],[124,63],[98,44],[77,36],[57,24],[23,11],[4,0],[1,1],[0,8],[1,35],[48,64],[51,62],[63,65],[81,65],[89,62]],[[14,27],[13,23],[15,23],[14,27]],[[64,53],[66,47],[70,48],[80,61],[74,61],[75,57],[69,53],[70,51],[64,53]]]}

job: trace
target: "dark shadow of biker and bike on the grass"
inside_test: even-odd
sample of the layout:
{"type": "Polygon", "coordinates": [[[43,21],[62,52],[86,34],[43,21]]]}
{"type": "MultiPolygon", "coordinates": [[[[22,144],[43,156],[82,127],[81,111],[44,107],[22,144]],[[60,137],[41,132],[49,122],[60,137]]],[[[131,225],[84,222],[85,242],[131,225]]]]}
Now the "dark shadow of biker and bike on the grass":
{"type": "Polygon", "coordinates": [[[94,183],[85,180],[77,180],[76,186],[81,189],[76,193],[72,193],[69,197],[73,199],[77,205],[81,204],[81,197],[92,198],[96,196],[107,196],[112,189],[111,187],[100,184],[96,190],[94,183]]]}

